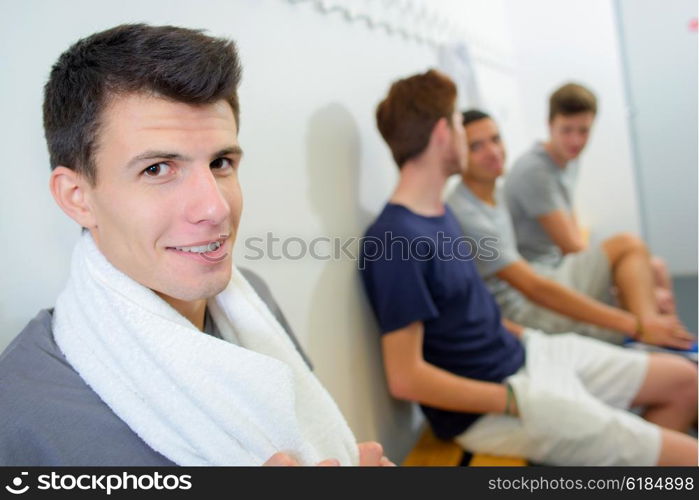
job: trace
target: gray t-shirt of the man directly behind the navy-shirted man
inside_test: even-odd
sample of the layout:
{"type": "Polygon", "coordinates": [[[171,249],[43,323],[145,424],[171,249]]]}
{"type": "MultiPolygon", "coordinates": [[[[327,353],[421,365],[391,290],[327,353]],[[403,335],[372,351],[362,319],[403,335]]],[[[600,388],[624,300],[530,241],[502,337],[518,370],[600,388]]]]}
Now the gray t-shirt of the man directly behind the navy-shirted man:
{"type": "Polygon", "coordinates": [[[465,236],[477,242],[476,268],[503,310],[511,310],[524,300],[522,294],[501,280],[496,273],[521,260],[517,252],[515,232],[498,189],[495,206],[480,200],[463,182],[447,197],[465,236]]]}

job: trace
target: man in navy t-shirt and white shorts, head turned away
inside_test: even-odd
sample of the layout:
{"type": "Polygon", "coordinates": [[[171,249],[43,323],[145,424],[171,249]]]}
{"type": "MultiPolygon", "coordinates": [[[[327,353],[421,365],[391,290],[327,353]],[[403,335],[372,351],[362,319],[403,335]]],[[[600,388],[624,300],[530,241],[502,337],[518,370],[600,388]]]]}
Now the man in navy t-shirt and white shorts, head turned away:
{"type": "Polygon", "coordinates": [[[677,356],[504,326],[442,192],[466,168],[456,87],[399,80],[377,123],[400,169],[360,269],[388,386],[435,434],[475,452],[558,465],[696,465],[697,375],[677,356]],[[526,355],[525,355],[526,354],[526,355]],[[644,418],[627,411],[645,406],[644,418]]]}

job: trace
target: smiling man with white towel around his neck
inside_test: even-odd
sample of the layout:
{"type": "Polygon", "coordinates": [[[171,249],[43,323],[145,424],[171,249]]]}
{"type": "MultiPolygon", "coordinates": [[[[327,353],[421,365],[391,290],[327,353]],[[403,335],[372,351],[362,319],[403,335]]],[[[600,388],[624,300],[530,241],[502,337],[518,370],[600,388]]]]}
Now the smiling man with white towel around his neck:
{"type": "Polygon", "coordinates": [[[0,465],[390,465],[233,265],[239,80],[232,41],[173,26],[54,65],[50,189],[83,231],[55,308],[0,355],[0,465]]]}

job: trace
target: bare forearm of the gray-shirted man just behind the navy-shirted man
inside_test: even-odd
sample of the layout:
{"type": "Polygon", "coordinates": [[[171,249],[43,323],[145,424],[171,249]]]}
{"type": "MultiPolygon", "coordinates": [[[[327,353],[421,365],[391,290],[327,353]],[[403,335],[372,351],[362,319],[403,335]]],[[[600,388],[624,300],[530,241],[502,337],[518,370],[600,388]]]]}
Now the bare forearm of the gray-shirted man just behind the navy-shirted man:
{"type": "Polygon", "coordinates": [[[636,333],[636,317],[608,306],[587,295],[540,276],[524,260],[518,260],[497,273],[532,302],[585,323],[623,332],[636,333]]]}

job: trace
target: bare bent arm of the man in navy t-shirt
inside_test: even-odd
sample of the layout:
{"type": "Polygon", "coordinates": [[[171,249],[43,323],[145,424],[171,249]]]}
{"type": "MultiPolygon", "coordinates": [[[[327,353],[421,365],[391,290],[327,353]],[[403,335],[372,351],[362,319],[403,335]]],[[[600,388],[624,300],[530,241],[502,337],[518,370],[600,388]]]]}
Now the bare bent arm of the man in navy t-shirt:
{"type": "Polygon", "coordinates": [[[391,394],[435,408],[465,413],[503,413],[504,384],[454,375],[422,357],[422,322],[387,333],[382,338],[384,368],[391,394]]]}

